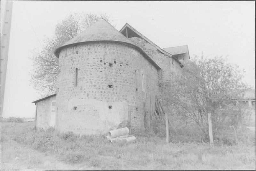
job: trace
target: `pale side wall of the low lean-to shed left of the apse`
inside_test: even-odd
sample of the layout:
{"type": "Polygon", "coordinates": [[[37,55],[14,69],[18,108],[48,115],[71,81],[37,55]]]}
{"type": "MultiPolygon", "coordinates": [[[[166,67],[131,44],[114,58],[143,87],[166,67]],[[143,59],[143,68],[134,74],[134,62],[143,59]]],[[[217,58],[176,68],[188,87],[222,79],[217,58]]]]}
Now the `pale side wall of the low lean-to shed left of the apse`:
{"type": "Polygon", "coordinates": [[[36,127],[47,129],[51,122],[51,105],[52,101],[56,101],[56,96],[52,96],[36,103],[36,127]]]}

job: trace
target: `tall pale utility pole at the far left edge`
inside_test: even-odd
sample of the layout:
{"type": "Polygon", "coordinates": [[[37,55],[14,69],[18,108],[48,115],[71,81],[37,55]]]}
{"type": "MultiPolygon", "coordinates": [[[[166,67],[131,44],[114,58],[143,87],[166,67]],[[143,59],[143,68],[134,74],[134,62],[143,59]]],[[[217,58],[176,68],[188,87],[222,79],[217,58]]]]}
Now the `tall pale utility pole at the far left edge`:
{"type": "Polygon", "coordinates": [[[9,41],[10,41],[10,32],[11,32],[11,22],[12,22],[12,1],[5,2],[4,9],[4,21],[3,21],[3,30],[2,30],[2,39],[1,39],[1,116],[0,121],[3,116],[3,105],[4,105],[4,87],[5,87],[5,78],[6,78],[6,69],[7,69],[7,60],[8,60],[8,50],[9,50],[9,41]]]}

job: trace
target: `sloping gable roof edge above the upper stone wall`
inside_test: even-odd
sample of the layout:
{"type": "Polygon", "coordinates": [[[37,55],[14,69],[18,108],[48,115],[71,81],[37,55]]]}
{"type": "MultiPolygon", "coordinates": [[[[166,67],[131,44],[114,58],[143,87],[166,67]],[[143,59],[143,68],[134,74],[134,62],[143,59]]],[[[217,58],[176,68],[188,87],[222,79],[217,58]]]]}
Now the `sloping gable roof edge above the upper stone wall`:
{"type": "MultiPolygon", "coordinates": [[[[128,23],[126,23],[123,28],[119,31],[122,34],[126,35],[126,28],[129,28],[132,32],[134,32],[135,34],[137,34],[138,36],[140,36],[142,39],[146,40],[148,43],[150,43],[151,45],[153,45],[154,47],[156,47],[156,49],[158,51],[160,51],[161,53],[172,57],[172,54],[169,52],[166,52],[165,50],[161,49],[159,46],[157,46],[155,43],[153,43],[151,40],[149,40],[148,38],[146,38],[143,34],[141,34],[140,32],[138,32],[137,30],[135,30],[131,25],[129,25],[128,23]]],[[[175,59],[177,62],[180,63],[180,61],[176,58],[173,57],[173,59],[175,59]]],[[[180,63],[181,64],[181,63],[180,63]]]]}

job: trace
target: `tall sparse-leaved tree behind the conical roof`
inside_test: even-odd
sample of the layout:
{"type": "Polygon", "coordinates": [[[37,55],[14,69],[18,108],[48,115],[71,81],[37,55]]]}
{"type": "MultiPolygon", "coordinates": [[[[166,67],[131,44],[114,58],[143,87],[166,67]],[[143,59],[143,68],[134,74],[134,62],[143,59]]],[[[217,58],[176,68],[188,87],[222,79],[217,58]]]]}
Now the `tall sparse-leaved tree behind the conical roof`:
{"type": "Polygon", "coordinates": [[[96,15],[85,12],[69,14],[56,25],[53,37],[45,37],[42,50],[38,48],[33,50],[30,58],[34,69],[30,72],[30,83],[41,96],[56,93],[58,58],[54,55],[54,50],[100,18],[111,23],[106,14],[96,15]]]}

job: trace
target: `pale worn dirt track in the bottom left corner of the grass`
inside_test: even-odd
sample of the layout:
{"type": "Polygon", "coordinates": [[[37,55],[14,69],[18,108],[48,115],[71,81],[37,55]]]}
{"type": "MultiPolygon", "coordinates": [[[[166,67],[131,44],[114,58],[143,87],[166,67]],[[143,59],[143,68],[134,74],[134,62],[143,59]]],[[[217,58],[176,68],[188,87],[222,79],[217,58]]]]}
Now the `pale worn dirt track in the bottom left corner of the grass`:
{"type": "Polygon", "coordinates": [[[13,140],[1,142],[0,170],[101,170],[83,164],[66,164],[56,156],[35,151],[13,140]],[[8,143],[8,144],[5,144],[8,143]],[[8,148],[2,148],[9,146],[8,148]]]}

